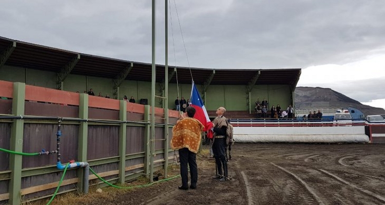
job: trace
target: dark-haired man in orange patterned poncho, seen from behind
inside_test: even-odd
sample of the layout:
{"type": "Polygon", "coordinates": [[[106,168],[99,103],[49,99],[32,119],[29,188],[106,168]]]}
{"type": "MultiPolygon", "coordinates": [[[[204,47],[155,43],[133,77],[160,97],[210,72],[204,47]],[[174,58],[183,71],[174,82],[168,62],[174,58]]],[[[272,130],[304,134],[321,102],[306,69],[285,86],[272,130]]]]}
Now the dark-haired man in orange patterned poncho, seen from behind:
{"type": "Polygon", "coordinates": [[[197,152],[201,144],[201,133],[204,126],[200,121],[193,118],[195,115],[194,107],[187,107],[187,117],[179,115],[177,125],[172,128],[172,139],[170,142],[171,149],[179,150],[180,173],[182,178],[182,186],[178,187],[182,190],[188,189],[188,169],[190,167],[191,185],[190,189],[197,188],[198,167],[197,152]]]}

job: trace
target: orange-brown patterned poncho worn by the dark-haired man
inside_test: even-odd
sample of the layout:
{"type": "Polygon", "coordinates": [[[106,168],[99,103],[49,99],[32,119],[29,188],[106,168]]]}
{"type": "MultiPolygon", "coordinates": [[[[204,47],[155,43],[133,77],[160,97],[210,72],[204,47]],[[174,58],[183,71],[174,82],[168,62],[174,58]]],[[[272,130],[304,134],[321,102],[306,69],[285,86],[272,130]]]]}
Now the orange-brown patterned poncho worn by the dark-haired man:
{"type": "Polygon", "coordinates": [[[172,128],[171,149],[188,148],[189,151],[197,153],[203,128],[202,123],[195,118],[187,117],[180,120],[172,128]]]}

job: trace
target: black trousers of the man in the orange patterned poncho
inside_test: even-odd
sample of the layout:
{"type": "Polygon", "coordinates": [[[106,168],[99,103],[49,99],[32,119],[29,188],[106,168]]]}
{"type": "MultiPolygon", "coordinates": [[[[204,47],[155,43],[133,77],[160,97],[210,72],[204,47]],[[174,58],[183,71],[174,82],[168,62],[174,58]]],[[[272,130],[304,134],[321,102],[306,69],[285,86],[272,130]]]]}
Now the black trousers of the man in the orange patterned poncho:
{"type": "Polygon", "coordinates": [[[188,169],[190,167],[191,186],[196,187],[198,181],[197,154],[182,148],[179,150],[179,159],[181,162],[182,187],[188,188],[188,169]]]}

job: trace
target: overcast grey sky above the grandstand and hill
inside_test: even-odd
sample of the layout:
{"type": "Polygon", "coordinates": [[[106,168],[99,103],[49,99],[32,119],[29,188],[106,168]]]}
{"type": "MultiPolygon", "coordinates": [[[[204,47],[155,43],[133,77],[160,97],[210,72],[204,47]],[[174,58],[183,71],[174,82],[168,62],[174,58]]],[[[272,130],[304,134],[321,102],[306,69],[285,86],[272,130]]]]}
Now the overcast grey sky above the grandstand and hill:
{"type": "MultiPolygon", "coordinates": [[[[297,86],[385,108],[383,0],[169,2],[169,65],[302,68],[297,86]]],[[[157,64],[165,62],[164,16],[157,1],[157,64]]],[[[151,63],[151,1],[2,0],[0,36],[151,63]]]]}

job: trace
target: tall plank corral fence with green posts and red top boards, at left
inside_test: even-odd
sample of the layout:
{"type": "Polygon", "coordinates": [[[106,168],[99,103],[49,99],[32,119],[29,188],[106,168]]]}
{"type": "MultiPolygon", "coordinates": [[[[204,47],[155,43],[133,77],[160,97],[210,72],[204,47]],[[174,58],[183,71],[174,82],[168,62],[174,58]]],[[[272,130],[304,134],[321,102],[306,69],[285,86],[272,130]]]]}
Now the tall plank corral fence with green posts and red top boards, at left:
{"type": "MultiPolygon", "coordinates": [[[[110,183],[152,176],[162,169],[167,176],[167,165],[174,162],[169,141],[177,111],[155,109],[151,138],[148,105],[1,80],[0,88],[0,148],[52,153],[22,156],[0,151],[0,204],[52,196],[63,171],[56,168],[59,158],[63,164],[86,161],[110,183]]],[[[83,169],[68,169],[59,194],[83,191],[84,177],[83,169]]],[[[102,183],[94,179],[97,176],[89,175],[90,185],[102,183]]]]}

